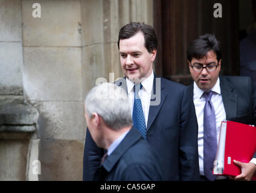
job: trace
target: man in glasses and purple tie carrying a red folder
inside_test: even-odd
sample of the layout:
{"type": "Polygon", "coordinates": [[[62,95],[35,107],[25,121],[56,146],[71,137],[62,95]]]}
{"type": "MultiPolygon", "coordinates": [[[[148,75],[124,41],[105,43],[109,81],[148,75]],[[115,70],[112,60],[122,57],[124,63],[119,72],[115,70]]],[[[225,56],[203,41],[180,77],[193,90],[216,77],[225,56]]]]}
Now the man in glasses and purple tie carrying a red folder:
{"type": "MultiPolygon", "coordinates": [[[[219,76],[222,55],[220,43],[213,34],[205,34],[194,40],[188,46],[187,59],[194,80],[188,86],[188,92],[194,101],[199,126],[200,178],[216,180],[217,176],[211,172],[220,124],[228,120],[255,125],[256,93],[249,77],[219,76]]],[[[242,169],[242,174],[234,180],[251,180],[256,171],[255,158],[256,153],[249,163],[234,161],[242,169]]]]}

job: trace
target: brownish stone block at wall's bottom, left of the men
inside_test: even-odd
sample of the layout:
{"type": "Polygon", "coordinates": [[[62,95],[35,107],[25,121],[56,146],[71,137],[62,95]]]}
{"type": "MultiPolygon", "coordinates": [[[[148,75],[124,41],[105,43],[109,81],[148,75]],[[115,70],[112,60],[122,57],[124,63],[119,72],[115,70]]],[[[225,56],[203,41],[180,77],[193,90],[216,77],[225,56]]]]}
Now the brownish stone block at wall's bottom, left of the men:
{"type": "Polygon", "coordinates": [[[82,180],[84,142],[41,139],[39,180],[82,180]]]}

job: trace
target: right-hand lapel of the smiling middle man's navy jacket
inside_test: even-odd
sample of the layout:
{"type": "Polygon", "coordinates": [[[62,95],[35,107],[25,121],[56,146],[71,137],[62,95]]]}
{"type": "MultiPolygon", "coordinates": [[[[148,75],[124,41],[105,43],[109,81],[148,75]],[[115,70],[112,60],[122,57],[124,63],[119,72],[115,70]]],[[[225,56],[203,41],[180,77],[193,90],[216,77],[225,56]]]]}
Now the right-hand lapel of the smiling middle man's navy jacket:
{"type": "MultiPolygon", "coordinates": [[[[164,100],[166,98],[166,93],[164,92],[164,85],[162,84],[163,81],[156,81],[156,78],[160,78],[160,77],[156,77],[156,75],[154,74],[154,81],[153,81],[153,89],[152,89],[152,96],[151,96],[151,102],[150,102],[150,107],[149,107],[149,118],[147,120],[147,131],[149,130],[150,126],[152,125],[153,121],[156,118],[156,115],[158,115],[159,110],[162,107],[162,104],[164,103],[164,100]],[[158,84],[160,83],[160,85],[158,84]],[[159,87],[161,87],[161,89],[159,90],[159,87]],[[160,93],[159,93],[160,91],[160,93]],[[161,96],[159,96],[159,94],[161,96]],[[158,97],[161,98],[161,100],[158,103],[155,103],[156,100],[158,100],[158,97]],[[156,105],[158,104],[158,105],[156,105]]],[[[161,80],[161,79],[158,79],[161,80]]]]}

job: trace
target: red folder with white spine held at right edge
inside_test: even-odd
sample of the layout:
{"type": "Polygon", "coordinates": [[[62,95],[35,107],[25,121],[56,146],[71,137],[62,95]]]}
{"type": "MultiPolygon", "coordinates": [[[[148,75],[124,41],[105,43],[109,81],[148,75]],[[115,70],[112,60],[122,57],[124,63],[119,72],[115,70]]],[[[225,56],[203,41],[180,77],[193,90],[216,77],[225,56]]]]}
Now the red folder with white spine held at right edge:
{"type": "MultiPolygon", "coordinates": [[[[255,151],[256,127],[234,121],[222,121],[213,174],[238,176],[241,174],[241,169],[235,165],[234,160],[248,163],[255,151]],[[225,152],[221,153],[220,151],[223,150],[225,152]]],[[[253,179],[256,180],[256,174],[253,179]]]]}

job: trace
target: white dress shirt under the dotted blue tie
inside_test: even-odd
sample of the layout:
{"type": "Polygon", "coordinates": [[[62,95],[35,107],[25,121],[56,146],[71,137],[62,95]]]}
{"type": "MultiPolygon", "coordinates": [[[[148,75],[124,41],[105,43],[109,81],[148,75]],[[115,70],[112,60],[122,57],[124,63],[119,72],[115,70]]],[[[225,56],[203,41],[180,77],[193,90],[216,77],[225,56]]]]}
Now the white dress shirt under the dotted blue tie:
{"type": "MultiPolygon", "coordinates": [[[[141,82],[142,89],[139,90],[139,98],[141,98],[141,104],[142,104],[142,109],[145,117],[146,127],[147,127],[147,120],[149,118],[149,107],[150,107],[153,81],[154,81],[154,73],[152,71],[150,76],[146,80],[141,82]]],[[[130,81],[128,78],[126,78],[126,83],[127,83],[127,93],[129,95],[129,100],[130,100],[130,107],[132,108],[132,111],[133,111],[134,83],[130,81]]]]}

